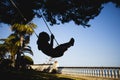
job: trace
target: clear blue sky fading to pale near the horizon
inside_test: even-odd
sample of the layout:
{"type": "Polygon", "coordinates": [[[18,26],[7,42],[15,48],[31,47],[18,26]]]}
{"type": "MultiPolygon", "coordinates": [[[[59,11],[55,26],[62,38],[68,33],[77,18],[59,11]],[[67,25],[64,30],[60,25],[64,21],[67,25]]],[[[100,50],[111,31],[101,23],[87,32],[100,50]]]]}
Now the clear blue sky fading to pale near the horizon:
{"type": "MultiPolygon", "coordinates": [[[[47,32],[44,21],[34,18],[37,25],[35,32],[47,32]]],[[[91,27],[84,28],[69,22],[50,26],[52,33],[59,44],[75,39],[74,46],[70,47],[62,57],[55,58],[59,66],[115,66],[120,67],[120,8],[112,3],[104,5],[99,16],[89,22],[91,27]]],[[[0,24],[0,38],[7,38],[11,34],[10,25],[0,24]]],[[[49,58],[37,48],[37,37],[33,34],[30,44],[34,56],[34,64],[47,63],[49,58]]],[[[57,44],[54,41],[54,47],[57,44]]]]}

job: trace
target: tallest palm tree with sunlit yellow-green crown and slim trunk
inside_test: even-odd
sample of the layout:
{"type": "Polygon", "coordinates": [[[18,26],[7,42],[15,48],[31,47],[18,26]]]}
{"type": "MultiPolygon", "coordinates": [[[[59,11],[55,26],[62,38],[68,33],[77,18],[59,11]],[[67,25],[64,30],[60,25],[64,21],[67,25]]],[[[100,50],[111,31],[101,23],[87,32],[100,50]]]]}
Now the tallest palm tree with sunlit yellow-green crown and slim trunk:
{"type": "Polygon", "coordinates": [[[20,58],[21,54],[23,53],[22,50],[26,46],[26,44],[29,43],[30,35],[34,32],[34,28],[36,28],[36,25],[33,23],[28,24],[14,24],[11,26],[11,30],[14,31],[15,34],[19,37],[20,44],[18,45],[19,49],[17,52],[17,60],[18,64],[17,66],[20,66],[20,58]]]}

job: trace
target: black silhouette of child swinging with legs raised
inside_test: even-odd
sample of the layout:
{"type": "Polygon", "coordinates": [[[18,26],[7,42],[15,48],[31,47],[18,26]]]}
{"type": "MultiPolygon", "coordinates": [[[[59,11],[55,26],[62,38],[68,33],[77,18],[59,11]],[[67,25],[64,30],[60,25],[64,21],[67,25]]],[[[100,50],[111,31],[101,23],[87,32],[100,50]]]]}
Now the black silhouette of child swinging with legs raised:
{"type": "Polygon", "coordinates": [[[74,45],[74,39],[71,38],[69,42],[60,44],[57,47],[53,48],[53,39],[54,39],[53,34],[51,34],[50,38],[46,32],[41,32],[37,40],[38,49],[41,50],[46,55],[51,56],[52,58],[63,56],[64,52],[69,47],[74,45]]]}

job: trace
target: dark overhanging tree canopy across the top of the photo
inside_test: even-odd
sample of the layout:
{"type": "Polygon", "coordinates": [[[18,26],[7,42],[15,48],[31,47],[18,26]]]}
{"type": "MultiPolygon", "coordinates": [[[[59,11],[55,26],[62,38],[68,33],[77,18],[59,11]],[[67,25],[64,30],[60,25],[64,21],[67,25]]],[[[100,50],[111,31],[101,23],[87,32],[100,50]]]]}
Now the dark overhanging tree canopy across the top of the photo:
{"type": "Polygon", "coordinates": [[[89,20],[98,16],[108,2],[120,7],[119,0],[0,0],[0,23],[26,24],[43,14],[51,25],[73,21],[89,26],[89,20]]]}

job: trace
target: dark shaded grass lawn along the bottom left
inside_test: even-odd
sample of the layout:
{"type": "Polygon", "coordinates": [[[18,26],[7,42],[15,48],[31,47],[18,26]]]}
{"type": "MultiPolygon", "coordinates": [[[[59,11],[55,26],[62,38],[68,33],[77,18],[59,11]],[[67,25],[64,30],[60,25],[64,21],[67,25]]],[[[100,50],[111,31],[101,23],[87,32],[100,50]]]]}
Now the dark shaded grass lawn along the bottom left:
{"type": "MultiPolygon", "coordinates": [[[[50,74],[39,71],[4,71],[0,70],[0,80],[74,80],[61,74],[50,74]]],[[[83,79],[82,79],[83,80],[83,79]]]]}

